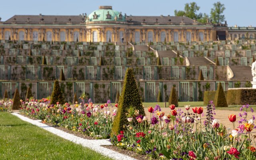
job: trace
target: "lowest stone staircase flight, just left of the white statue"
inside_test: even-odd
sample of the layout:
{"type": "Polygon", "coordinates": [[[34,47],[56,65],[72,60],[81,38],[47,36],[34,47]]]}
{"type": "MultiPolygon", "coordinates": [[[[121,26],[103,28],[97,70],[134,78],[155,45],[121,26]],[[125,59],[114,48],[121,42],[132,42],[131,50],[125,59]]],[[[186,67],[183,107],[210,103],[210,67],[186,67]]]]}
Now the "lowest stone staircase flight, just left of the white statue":
{"type": "Polygon", "coordinates": [[[230,66],[234,77],[231,80],[252,81],[252,70],[250,66],[230,66]]]}

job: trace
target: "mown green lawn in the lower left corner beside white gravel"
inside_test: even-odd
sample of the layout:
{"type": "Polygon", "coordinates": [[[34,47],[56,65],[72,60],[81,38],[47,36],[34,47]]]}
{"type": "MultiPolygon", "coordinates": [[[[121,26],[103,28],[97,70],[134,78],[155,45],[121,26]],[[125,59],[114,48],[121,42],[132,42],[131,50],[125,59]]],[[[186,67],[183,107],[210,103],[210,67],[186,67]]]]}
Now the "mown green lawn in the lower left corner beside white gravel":
{"type": "Polygon", "coordinates": [[[0,160],[111,160],[42,128],[0,112],[0,160]]]}

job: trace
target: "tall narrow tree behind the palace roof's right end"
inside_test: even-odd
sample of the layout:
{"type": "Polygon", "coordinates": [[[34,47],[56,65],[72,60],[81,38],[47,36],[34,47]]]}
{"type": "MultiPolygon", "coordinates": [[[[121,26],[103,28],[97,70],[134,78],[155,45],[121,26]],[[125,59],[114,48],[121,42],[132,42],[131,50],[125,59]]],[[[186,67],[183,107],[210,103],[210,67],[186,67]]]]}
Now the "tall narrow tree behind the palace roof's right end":
{"type": "Polygon", "coordinates": [[[223,12],[225,9],[226,8],[224,7],[224,4],[221,4],[220,2],[216,2],[213,4],[213,8],[211,9],[210,13],[210,18],[212,19],[213,23],[224,22],[225,16],[223,12]]]}

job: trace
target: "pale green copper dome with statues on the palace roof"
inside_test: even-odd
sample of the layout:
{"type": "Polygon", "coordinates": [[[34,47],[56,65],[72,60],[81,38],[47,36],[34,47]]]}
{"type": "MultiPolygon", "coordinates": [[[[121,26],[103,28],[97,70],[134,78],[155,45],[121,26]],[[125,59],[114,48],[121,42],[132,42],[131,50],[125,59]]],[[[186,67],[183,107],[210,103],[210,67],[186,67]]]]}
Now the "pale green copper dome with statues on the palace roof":
{"type": "Polygon", "coordinates": [[[100,6],[98,10],[93,11],[89,14],[87,22],[94,21],[123,21],[125,22],[125,17],[122,12],[112,10],[112,6],[100,6]]]}

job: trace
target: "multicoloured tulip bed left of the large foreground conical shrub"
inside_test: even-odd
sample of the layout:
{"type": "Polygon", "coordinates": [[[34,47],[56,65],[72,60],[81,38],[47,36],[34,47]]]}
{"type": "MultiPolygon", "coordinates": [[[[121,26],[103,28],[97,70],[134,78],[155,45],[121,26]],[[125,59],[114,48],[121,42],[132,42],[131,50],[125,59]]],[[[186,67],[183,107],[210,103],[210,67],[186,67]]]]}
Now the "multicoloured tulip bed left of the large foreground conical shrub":
{"type": "MultiPolygon", "coordinates": [[[[22,102],[20,113],[40,119],[43,123],[62,126],[96,139],[106,139],[110,137],[113,122],[110,107],[113,107],[110,101],[96,105],[89,99],[88,103],[82,102],[79,105],[61,105],[58,102],[53,105],[44,98],[22,102]]],[[[116,110],[112,115],[115,114],[116,110]]]]}

